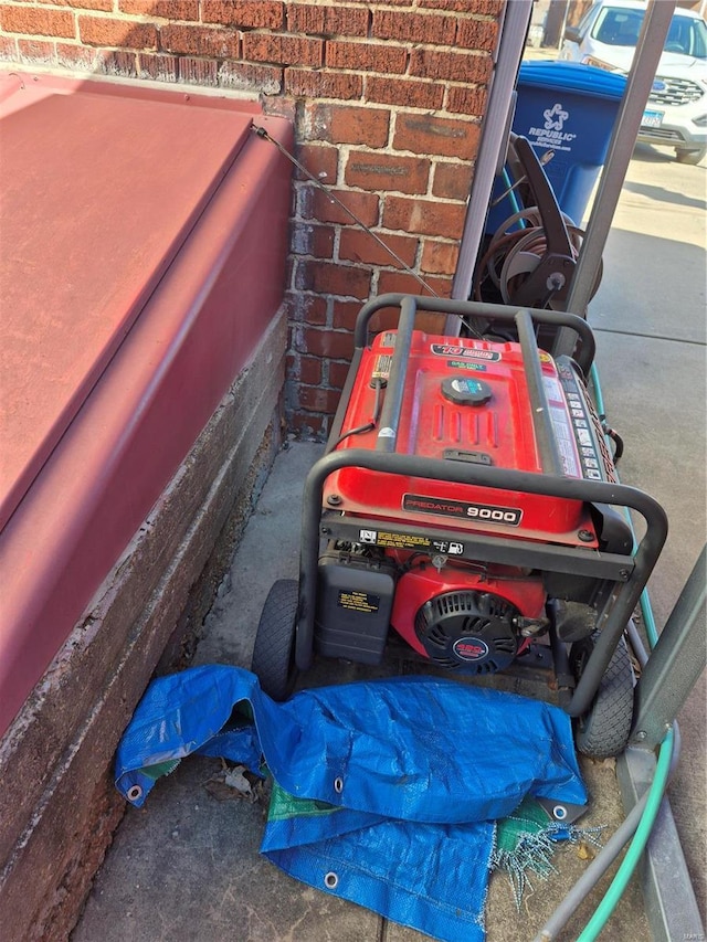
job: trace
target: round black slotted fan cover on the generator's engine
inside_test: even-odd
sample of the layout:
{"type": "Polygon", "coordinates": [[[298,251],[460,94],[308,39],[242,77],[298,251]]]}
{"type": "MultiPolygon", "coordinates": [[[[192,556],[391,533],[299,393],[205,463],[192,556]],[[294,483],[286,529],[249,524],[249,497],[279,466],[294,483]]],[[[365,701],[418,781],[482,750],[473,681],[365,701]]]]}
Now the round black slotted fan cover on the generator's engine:
{"type": "Polygon", "coordinates": [[[415,634],[440,667],[494,674],[516,656],[517,614],[514,605],[490,592],[444,592],[418,610],[415,634]]]}

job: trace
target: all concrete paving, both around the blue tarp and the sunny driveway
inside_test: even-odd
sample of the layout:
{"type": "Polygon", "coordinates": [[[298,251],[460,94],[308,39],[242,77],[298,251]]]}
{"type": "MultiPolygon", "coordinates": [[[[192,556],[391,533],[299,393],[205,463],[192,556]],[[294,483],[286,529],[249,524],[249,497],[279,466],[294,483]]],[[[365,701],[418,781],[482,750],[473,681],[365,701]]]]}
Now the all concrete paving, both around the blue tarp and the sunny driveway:
{"type": "MultiPolygon", "coordinates": [[[[592,303],[590,321],[599,330],[598,364],[609,421],[626,441],[620,465],[622,480],[656,497],[671,520],[671,537],[651,582],[661,626],[706,531],[704,242],[699,250],[699,229],[689,229],[693,223],[688,220],[697,207],[687,207],[685,212],[685,205],[677,205],[683,241],[676,240],[675,232],[657,214],[654,194],[647,188],[657,186],[659,170],[668,174],[694,171],[701,173],[699,180],[704,182],[704,168],[666,168],[659,158],[651,157],[650,149],[646,155],[637,167],[632,165],[629,205],[616,216],[604,254],[604,283],[592,303]],[[686,232],[693,232],[692,244],[684,237],[686,232]],[[671,284],[662,274],[666,257],[683,260],[680,277],[671,284]]],[[[693,186],[698,187],[698,178],[695,180],[693,186]]],[[[319,453],[318,445],[293,443],[278,456],[207,618],[197,663],[249,665],[255,627],[272,582],[296,578],[302,485],[319,453]]],[[[378,671],[317,663],[307,682],[342,682],[409,669],[394,659],[378,671]]],[[[683,756],[671,795],[704,913],[704,678],[683,711],[682,732],[683,756]]],[[[591,812],[583,823],[606,825],[611,833],[623,817],[614,763],[583,761],[582,772],[592,795],[591,812]]],[[[157,784],[144,809],[128,808],[73,942],[123,942],[126,938],[136,942],[217,942],[229,938],[254,942],[412,942],[424,938],[292,880],[258,856],[262,829],[263,808],[224,784],[218,761],[193,758],[182,763],[157,784]]],[[[547,882],[535,881],[520,912],[505,875],[493,877],[487,907],[489,942],[529,942],[581,875],[587,860],[577,848],[564,847],[558,851],[556,864],[557,875],[547,882]]],[[[577,939],[608,881],[605,878],[580,908],[560,940],[577,939]]],[[[602,938],[651,938],[635,880],[602,938]]]]}

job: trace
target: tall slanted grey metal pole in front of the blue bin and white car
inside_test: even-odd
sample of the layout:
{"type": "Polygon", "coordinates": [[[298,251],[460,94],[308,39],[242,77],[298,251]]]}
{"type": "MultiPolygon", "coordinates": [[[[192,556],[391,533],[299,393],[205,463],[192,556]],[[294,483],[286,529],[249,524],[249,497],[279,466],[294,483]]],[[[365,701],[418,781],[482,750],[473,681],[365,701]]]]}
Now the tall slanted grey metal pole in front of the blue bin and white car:
{"type": "MultiPolygon", "coordinates": [[[[633,148],[639,136],[645,104],[651,94],[655,72],[661,61],[665,38],[675,11],[675,0],[651,0],[643,19],[643,28],[633,65],[629,73],[626,91],[619,109],[609,145],[606,162],[599,181],[587,235],[574,268],[572,284],[567,298],[567,310],[585,315],[601,256],[606,244],[611,223],[616,212],[621,188],[626,177],[633,148]]],[[[555,342],[553,354],[571,356],[574,339],[560,330],[555,342]]]]}

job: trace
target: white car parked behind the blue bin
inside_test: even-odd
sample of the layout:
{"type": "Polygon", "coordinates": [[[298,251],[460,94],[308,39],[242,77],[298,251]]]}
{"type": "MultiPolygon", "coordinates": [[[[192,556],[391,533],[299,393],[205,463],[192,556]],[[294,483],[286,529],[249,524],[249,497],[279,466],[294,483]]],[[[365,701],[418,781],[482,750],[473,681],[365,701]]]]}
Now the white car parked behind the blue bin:
{"type": "MultiPolygon", "coordinates": [[[[637,0],[599,0],[566,28],[559,59],[627,73],[644,15],[637,0]]],[[[673,15],[639,140],[674,147],[680,163],[707,154],[707,25],[692,10],[673,15]]]]}

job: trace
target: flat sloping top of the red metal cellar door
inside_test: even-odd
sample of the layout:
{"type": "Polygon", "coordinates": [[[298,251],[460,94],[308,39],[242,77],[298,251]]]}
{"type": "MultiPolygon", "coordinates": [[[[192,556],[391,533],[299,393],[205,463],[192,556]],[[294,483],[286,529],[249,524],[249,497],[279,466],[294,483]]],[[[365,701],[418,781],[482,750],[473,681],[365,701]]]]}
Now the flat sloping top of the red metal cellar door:
{"type": "Polygon", "coordinates": [[[254,102],[0,74],[0,528],[257,114],[254,102]]]}

